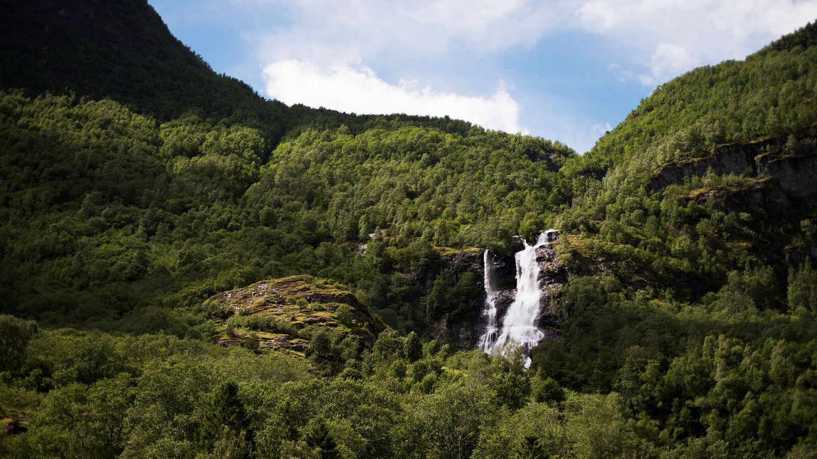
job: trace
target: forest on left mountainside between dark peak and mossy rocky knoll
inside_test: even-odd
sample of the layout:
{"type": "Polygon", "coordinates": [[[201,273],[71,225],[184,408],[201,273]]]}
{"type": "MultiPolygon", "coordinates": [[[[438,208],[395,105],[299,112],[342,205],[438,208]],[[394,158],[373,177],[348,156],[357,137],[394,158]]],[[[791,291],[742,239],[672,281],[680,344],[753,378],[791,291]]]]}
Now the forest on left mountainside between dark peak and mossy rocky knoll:
{"type": "MultiPolygon", "coordinates": [[[[275,147],[252,123],[194,109],[158,125],[113,100],[0,96],[2,308],[48,323],[190,307],[310,273],[420,330],[426,292],[402,270],[431,266],[432,243],[507,250],[523,221],[541,230],[556,207],[538,203],[557,199],[556,169],[573,155],[548,140],[396,121],[356,136],[306,130],[275,147]],[[349,241],[375,232],[361,258],[349,241]]],[[[464,305],[473,275],[441,307],[464,305]]]]}

